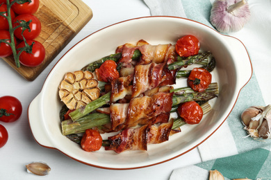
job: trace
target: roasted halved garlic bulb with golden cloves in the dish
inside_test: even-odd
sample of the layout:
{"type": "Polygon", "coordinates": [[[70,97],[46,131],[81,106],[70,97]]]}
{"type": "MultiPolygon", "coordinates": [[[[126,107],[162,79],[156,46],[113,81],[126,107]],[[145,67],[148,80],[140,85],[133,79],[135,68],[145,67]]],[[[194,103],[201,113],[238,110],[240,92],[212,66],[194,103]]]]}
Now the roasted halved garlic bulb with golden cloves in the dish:
{"type": "Polygon", "coordinates": [[[69,109],[79,109],[99,98],[98,83],[90,71],[66,73],[59,85],[59,97],[69,109]]]}

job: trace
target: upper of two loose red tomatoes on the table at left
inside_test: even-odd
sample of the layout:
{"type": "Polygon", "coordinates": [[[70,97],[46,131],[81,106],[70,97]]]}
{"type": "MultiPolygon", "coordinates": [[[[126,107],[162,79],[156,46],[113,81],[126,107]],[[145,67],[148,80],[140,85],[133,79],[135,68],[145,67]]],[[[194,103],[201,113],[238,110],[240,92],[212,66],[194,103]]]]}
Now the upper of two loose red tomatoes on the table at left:
{"type": "Polygon", "coordinates": [[[13,96],[0,98],[0,120],[6,123],[18,120],[22,114],[21,102],[13,96]]]}

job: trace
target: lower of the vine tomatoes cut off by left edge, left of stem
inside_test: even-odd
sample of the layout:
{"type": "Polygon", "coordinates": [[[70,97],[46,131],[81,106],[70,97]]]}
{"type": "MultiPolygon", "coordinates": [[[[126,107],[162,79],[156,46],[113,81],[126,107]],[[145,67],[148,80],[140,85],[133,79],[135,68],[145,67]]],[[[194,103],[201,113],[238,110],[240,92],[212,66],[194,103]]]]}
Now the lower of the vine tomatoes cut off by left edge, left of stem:
{"type": "MultiPolygon", "coordinates": [[[[10,32],[8,30],[0,30],[0,39],[10,39],[10,32]]],[[[16,39],[15,44],[16,44],[16,39]]],[[[10,42],[10,40],[8,40],[10,42]]],[[[0,57],[8,57],[9,55],[13,54],[13,50],[11,49],[10,45],[1,42],[0,43],[0,57]]]]}

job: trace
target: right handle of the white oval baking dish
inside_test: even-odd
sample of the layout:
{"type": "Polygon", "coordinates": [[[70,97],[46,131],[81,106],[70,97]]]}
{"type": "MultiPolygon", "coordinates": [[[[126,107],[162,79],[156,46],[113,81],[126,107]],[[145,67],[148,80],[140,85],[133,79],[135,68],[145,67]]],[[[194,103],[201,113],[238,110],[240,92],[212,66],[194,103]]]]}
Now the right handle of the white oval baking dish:
{"type": "Polygon", "coordinates": [[[249,53],[243,42],[236,37],[224,36],[226,41],[229,43],[231,52],[233,55],[234,64],[236,64],[236,74],[238,77],[237,85],[238,89],[242,89],[250,78],[252,78],[252,62],[249,58],[249,53]]]}

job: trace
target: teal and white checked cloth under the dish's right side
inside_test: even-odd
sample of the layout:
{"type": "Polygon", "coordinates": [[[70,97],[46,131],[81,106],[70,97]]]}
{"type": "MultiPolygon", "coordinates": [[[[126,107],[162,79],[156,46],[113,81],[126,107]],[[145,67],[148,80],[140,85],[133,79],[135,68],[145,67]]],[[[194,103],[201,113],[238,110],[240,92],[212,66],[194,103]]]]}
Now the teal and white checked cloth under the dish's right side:
{"type": "MultiPolygon", "coordinates": [[[[209,19],[214,0],[144,1],[150,9],[151,15],[185,17],[213,28],[209,19]]],[[[259,50],[254,39],[262,40],[261,43],[265,45],[263,47],[266,47],[268,52],[270,41],[265,38],[270,37],[270,31],[263,32],[262,36],[258,35],[255,33],[257,28],[255,24],[258,26],[261,21],[263,24],[271,24],[271,1],[249,0],[248,2],[252,14],[251,20],[239,32],[228,35],[240,39],[245,44],[252,60],[252,66],[259,69],[261,66],[258,64],[259,58],[268,58],[268,60],[270,58],[268,55],[258,56],[258,51],[263,51],[263,49],[259,50]]],[[[247,132],[243,129],[243,124],[240,121],[242,112],[247,107],[255,105],[265,106],[265,101],[256,75],[253,73],[251,80],[240,91],[236,105],[225,123],[215,134],[197,147],[202,163],[184,168],[176,167],[178,169],[172,172],[170,179],[208,179],[209,170],[220,171],[225,179],[246,177],[249,179],[271,179],[271,140],[257,141],[247,137],[247,132]]]]}

